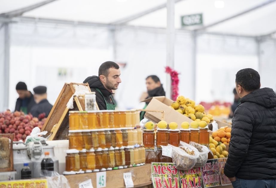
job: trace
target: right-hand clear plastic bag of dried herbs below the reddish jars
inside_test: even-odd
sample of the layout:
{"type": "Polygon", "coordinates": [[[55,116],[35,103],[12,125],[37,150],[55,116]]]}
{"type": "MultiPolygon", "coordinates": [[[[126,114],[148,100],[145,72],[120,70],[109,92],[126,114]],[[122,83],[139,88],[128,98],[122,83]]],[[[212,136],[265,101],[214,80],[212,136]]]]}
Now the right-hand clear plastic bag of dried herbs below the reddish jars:
{"type": "Polygon", "coordinates": [[[208,147],[202,146],[202,145],[197,144],[195,142],[190,142],[190,144],[187,144],[187,143],[182,142],[182,141],[180,141],[179,145],[182,146],[182,147],[187,147],[188,145],[191,146],[191,147],[193,147],[194,145],[198,145],[198,147],[202,147],[202,152],[199,152],[198,149],[196,149],[195,147],[193,147],[194,150],[196,150],[196,151],[199,152],[199,157],[197,158],[196,164],[195,164],[194,167],[204,167],[205,166],[205,164],[207,162],[207,159],[208,159],[208,153],[209,153],[208,147]]]}

